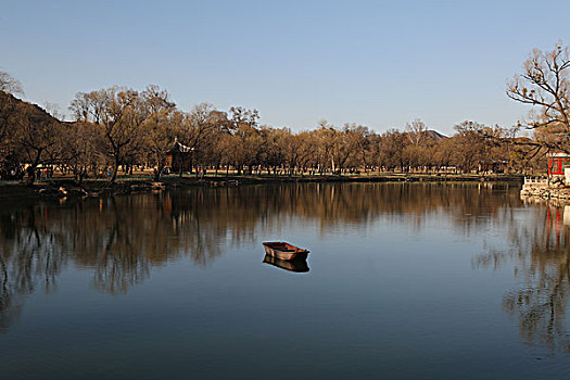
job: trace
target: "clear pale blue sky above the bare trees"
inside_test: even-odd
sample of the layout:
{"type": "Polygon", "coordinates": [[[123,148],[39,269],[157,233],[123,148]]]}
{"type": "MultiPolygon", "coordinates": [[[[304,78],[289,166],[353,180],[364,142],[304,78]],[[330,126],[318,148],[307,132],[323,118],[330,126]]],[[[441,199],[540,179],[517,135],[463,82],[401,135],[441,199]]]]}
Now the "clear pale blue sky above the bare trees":
{"type": "Polygon", "coordinates": [[[0,0],[0,69],[64,113],[78,91],[155,84],[182,110],[256,107],[293,130],[419,117],[451,134],[525,115],[506,79],[533,48],[570,43],[569,14],[568,0],[0,0]]]}

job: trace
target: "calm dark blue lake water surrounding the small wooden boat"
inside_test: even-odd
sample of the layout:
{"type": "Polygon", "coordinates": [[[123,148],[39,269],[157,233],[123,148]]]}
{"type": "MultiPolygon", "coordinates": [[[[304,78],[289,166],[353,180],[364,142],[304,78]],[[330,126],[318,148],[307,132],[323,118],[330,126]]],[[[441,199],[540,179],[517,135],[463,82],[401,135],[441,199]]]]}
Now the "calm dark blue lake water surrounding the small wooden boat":
{"type": "Polygon", "coordinates": [[[570,211],[519,190],[304,183],[2,204],[0,376],[569,378],[570,211]],[[264,263],[275,240],[308,259],[264,263]]]}

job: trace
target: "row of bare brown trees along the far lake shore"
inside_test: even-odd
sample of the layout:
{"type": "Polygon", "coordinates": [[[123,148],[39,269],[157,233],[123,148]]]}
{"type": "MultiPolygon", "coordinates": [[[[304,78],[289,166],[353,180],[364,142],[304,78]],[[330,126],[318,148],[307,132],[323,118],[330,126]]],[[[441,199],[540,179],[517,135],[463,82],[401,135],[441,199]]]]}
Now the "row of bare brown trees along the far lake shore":
{"type": "Polygon", "coordinates": [[[532,105],[533,117],[514,127],[466,121],[449,137],[421,119],[381,134],[326,121],[294,132],[262,125],[254,109],[201,103],[182,111],[157,86],[77,92],[68,107],[72,119],[64,121],[53,109],[50,114],[18,99],[21,84],[0,73],[0,177],[27,185],[71,179],[81,186],[96,179],[115,183],[122,170],[141,168],[152,177],[143,181],[172,183],[173,174],[205,175],[213,183],[208,174],[241,176],[241,182],[536,174],[546,168],[548,153],[570,152],[569,67],[568,48],[534,50],[506,89],[509,98],[532,105]]]}

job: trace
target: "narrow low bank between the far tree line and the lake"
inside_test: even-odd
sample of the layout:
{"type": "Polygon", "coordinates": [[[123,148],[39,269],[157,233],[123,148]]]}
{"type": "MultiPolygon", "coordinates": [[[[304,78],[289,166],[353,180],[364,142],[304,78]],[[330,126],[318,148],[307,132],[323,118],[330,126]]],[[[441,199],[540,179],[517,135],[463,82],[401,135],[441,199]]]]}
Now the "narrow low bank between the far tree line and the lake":
{"type": "Polygon", "coordinates": [[[316,176],[273,176],[273,175],[230,175],[230,176],[166,176],[154,182],[151,177],[123,177],[111,183],[106,180],[84,180],[81,185],[72,179],[50,179],[34,185],[23,182],[0,183],[0,200],[41,200],[63,198],[109,197],[162,191],[193,187],[238,187],[264,183],[334,183],[334,182],[482,182],[508,181],[523,182],[522,175],[316,175],[316,176]]]}

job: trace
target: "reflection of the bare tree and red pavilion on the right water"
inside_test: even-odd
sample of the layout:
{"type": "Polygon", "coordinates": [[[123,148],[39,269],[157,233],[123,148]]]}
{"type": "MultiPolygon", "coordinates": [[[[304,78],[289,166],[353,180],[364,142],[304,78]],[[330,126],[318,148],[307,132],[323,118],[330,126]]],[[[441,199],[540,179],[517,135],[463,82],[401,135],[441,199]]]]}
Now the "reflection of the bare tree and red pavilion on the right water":
{"type": "Polygon", "coordinates": [[[490,251],[477,261],[482,267],[515,261],[521,286],[505,293],[504,309],[518,319],[527,343],[568,353],[570,207],[547,204],[532,212],[534,223],[519,220],[510,226],[509,250],[490,251]]]}

